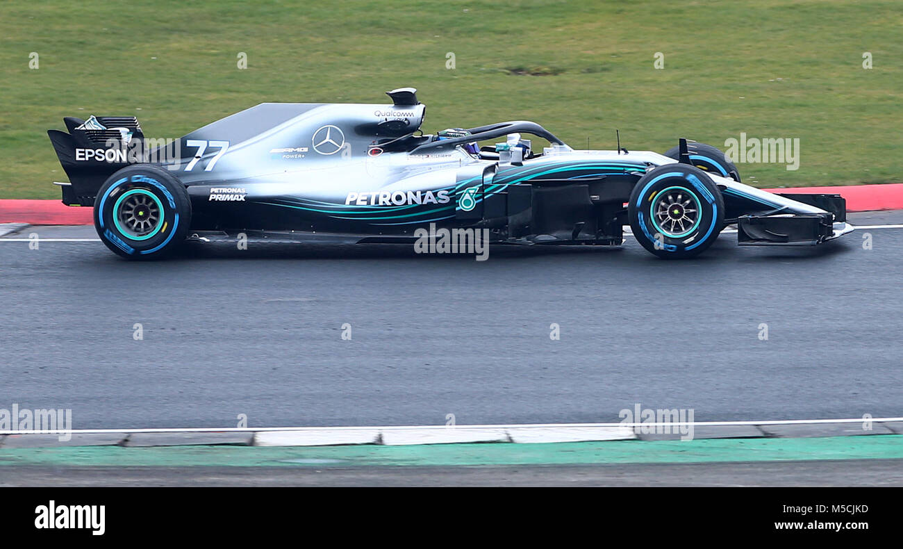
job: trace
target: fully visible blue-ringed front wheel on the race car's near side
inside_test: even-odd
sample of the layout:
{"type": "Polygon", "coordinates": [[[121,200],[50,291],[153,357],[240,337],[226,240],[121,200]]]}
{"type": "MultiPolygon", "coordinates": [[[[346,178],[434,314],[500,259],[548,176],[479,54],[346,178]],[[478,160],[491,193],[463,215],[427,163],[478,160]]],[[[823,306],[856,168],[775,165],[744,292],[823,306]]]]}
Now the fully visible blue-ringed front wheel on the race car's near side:
{"type": "Polygon", "coordinates": [[[702,253],[718,238],[724,199],[699,168],[665,164],[637,181],[628,214],[643,247],[659,257],[682,259],[702,253]]]}

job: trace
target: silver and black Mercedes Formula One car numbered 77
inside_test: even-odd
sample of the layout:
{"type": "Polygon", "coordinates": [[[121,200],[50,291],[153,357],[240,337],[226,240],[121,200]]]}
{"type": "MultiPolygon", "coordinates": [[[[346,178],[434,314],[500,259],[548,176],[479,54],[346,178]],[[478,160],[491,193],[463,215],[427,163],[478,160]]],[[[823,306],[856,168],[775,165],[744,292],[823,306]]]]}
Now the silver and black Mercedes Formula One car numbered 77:
{"type": "Polygon", "coordinates": [[[172,142],[145,139],[134,116],[67,117],[69,133],[48,132],[70,180],[62,201],[93,206],[101,240],[135,259],[190,235],[404,243],[427,226],[486,229],[492,244],[620,245],[628,224],[649,252],[679,258],[727,224],[740,245],[853,229],[839,195],[760,191],[684,139],[666,154],[575,151],[526,121],[424,135],[415,91],[387,92],[391,105],[264,103],[172,142]]]}

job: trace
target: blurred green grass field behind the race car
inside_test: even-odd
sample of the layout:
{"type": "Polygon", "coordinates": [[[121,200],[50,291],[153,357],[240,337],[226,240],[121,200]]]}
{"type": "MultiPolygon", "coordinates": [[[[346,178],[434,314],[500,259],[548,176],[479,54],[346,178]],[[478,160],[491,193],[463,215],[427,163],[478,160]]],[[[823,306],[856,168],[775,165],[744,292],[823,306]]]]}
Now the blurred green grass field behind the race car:
{"type": "Polygon", "coordinates": [[[179,137],[264,101],[383,103],[402,86],[428,133],[532,119],[574,148],[613,149],[619,128],[660,152],[798,137],[799,170],[740,164],[744,181],[903,181],[901,67],[898,0],[5,1],[0,198],[59,198],[45,131],[63,116],[135,115],[179,137]]]}

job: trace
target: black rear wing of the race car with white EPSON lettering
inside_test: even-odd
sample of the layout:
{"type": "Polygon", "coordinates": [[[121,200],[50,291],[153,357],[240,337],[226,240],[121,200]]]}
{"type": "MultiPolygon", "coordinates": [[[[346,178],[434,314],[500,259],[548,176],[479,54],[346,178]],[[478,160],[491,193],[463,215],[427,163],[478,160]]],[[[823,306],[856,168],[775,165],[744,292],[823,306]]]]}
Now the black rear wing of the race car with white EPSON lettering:
{"type": "Polygon", "coordinates": [[[100,186],[117,170],[136,162],[135,150],[144,140],[135,116],[63,118],[67,132],[48,130],[53,150],[69,184],[62,183],[67,206],[93,206],[100,186]]]}

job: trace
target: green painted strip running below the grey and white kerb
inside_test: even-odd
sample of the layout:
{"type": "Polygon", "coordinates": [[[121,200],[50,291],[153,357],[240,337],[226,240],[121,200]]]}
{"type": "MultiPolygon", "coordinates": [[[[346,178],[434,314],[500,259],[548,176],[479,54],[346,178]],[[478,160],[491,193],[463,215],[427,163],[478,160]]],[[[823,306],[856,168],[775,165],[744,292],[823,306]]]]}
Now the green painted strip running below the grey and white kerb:
{"type": "Polygon", "coordinates": [[[903,435],[420,446],[82,446],[0,449],[0,467],[483,466],[903,459],[903,435]]]}

